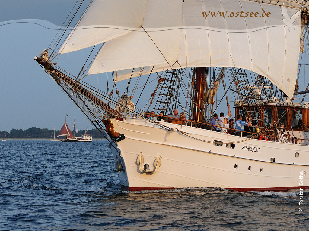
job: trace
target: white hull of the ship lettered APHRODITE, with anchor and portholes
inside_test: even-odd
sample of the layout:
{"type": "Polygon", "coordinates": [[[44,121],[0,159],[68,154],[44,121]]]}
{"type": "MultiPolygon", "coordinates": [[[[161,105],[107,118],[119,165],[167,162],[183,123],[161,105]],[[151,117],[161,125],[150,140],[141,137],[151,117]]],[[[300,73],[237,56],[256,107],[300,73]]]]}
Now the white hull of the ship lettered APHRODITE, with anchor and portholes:
{"type": "MultiPolygon", "coordinates": [[[[123,168],[119,172],[123,190],[215,187],[245,192],[308,188],[308,145],[246,139],[162,123],[176,128],[167,131],[145,119],[112,121],[115,131],[125,135],[125,139],[117,143],[123,168]],[[223,145],[214,145],[214,140],[223,145]],[[232,147],[235,144],[235,148],[226,143],[232,147]],[[148,164],[150,172],[140,171],[139,154],[144,160],[142,169],[148,164]],[[151,173],[158,156],[162,157],[161,164],[151,173]]],[[[117,169],[119,152],[115,147],[110,148],[116,170],[121,170],[117,169]]]]}

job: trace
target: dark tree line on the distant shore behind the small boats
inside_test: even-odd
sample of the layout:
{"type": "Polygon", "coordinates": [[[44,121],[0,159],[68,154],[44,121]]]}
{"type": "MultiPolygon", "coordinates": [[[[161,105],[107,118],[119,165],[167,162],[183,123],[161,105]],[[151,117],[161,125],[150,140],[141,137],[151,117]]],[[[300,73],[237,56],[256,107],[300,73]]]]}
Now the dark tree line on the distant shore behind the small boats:
{"type": "MultiPolygon", "coordinates": [[[[5,131],[0,131],[0,137],[3,139],[5,131]]],[[[55,137],[58,135],[60,130],[55,130],[55,137]]],[[[15,129],[13,128],[10,132],[6,132],[6,138],[50,138],[52,136],[53,130],[47,128],[28,128],[26,130],[23,129],[15,129]]],[[[83,133],[86,133],[86,130],[78,130],[78,133],[75,132],[75,136],[81,136],[83,133]]],[[[88,129],[88,133],[92,134],[92,138],[104,139],[105,137],[99,132],[97,129],[88,129]]],[[[74,134],[74,131],[72,131],[74,134]]]]}

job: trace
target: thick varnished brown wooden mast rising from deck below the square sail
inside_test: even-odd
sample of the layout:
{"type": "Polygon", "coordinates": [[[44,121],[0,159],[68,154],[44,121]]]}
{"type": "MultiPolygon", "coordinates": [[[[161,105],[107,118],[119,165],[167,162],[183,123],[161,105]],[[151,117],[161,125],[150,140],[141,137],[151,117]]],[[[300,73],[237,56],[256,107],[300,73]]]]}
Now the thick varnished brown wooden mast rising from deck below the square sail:
{"type": "Polygon", "coordinates": [[[196,81],[193,101],[193,120],[204,121],[204,91],[205,91],[206,67],[196,68],[196,81]]]}

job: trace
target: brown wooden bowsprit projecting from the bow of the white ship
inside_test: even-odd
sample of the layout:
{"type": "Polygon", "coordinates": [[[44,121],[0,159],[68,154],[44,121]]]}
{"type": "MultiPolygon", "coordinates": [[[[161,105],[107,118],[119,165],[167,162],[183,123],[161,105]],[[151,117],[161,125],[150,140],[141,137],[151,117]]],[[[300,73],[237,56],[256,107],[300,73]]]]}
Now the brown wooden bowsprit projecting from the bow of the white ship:
{"type": "Polygon", "coordinates": [[[102,102],[102,100],[95,97],[90,91],[86,90],[81,86],[77,81],[71,79],[69,76],[63,74],[61,71],[55,69],[49,62],[43,60],[40,57],[34,57],[34,59],[41,64],[45,70],[49,72],[49,74],[54,78],[57,83],[60,83],[60,79],[68,83],[74,91],[78,91],[80,94],[85,96],[89,101],[93,102],[95,105],[115,116],[122,117],[122,114],[119,111],[112,109],[112,107],[108,106],[106,103],[102,102]]]}

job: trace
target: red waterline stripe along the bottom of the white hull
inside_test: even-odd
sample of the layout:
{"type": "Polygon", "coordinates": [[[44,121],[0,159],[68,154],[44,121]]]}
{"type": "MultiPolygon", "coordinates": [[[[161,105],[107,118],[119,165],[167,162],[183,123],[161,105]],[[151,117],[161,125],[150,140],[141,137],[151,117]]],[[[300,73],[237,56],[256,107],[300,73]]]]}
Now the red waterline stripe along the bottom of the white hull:
{"type": "MultiPolygon", "coordinates": [[[[237,192],[249,192],[249,191],[258,191],[258,192],[264,192],[264,191],[272,191],[272,192],[282,192],[282,191],[287,191],[289,189],[309,189],[309,186],[304,186],[304,187],[278,187],[278,188],[226,188],[230,190],[234,190],[237,192]]],[[[145,191],[145,190],[168,190],[168,189],[175,189],[175,188],[142,188],[142,187],[127,187],[127,186],[122,186],[121,189],[123,191],[145,191]]]]}

